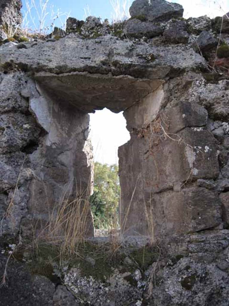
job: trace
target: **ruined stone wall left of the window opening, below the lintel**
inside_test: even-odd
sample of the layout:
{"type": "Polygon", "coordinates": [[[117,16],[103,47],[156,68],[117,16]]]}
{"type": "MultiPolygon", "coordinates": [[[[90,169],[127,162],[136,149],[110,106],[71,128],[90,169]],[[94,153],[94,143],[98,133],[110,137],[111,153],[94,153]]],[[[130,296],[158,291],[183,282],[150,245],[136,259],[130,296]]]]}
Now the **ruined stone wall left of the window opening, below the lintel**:
{"type": "MultiPolygon", "coordinates": [[[[89,116],[70,105],[52,103],[25,73],[2,74],[1,94],[5,234],[17,233],[21,222],[25,226],[34,219],[45,226],[64,194],[71,199],[77,189],[86,193],[88,186],[90,193],[92,153],[89,116]]],[[[93,235],[93,227],[89,232],[93,235]]]]}

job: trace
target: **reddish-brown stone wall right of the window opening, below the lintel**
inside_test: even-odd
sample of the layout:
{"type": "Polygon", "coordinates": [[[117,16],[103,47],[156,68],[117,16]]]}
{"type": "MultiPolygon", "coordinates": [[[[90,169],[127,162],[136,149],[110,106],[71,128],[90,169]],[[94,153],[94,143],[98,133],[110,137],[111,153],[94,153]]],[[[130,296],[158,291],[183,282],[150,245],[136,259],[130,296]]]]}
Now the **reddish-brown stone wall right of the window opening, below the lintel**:
{"type": "MultiPolygon", "coordinates": [[[[184,74],[169,81],[163,94],[155,94],[155,104],[164,103],[155,120],[129,126],[131,140],[119,148],[124,216],[132,198],[124,231],[147,234],[153,226],[154,235],[162,237],[223,227],[222,218],[227,217],[220,199],[224,207],[226,194],[220,193],[228,188],[226,84],[208,84],[201,75],[184,74]],[[212,100],[215,110],[208,113],[212,100]]],[[[132,108],[136,106],[124,113],[127,122],[132,108]]]]}

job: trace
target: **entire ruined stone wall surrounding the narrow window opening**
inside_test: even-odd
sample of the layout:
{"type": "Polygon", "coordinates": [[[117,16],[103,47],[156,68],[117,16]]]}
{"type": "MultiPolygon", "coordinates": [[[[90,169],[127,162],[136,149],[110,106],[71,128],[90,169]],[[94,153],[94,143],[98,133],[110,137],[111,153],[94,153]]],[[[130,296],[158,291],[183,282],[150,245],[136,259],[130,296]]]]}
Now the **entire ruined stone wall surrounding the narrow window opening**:
{"type": "Polygon", "coordinates": [[[118,150],[122,234],[87,240],[64,266],[53,245],[35,258],[23,245],[30,272],[12,262],[16,293],[0,289],[11,305],[25,278],[30,304],[228,306],[228,21],[185,20],[164,0],[130,12],[124,24],[71,18],[67,35],[0,45],[1,273],[9,237],[21,245],[63,195],[92,191],[88,114],[123,111],[131,136],[118,150]],[[34,286],[47,292],[36,299],[34,286]]]}

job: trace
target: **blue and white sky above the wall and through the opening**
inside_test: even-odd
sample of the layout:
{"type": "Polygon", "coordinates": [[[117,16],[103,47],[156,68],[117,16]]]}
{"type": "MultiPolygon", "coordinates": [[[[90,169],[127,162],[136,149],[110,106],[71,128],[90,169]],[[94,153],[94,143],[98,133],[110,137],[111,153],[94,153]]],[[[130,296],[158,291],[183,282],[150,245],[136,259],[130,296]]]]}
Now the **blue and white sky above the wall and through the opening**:
{"type": "MultiPolygon", "coordinates": [[[[26,0],[22,0],[24,10],[26,10],[25,1],[26,0]]],[[[38,8],[40,1],[45,2],[45,0],[27,1],[30,3],[31,1],[35,1],[38,8]]],[[[84,9],[87,10],[87,15],[101,17],[102,20],[105,18],[111,20],[114,10],[112,9],[110,1],[119,1],[122,3],[125,0],[49,0],[49,5],[47,6],[47,13],[49,14],[45,18],[45,25],[49,26],[52,23],[50,5],[53,6],[53,12],[56,13],[57,10],[60,9],[62,13],[70,13],[71,17],[80,20],[85,17],[84,9]]],[[[130,0],[129,2],[131,4],[133,0],[130,0]]],[[[185,18],[199,17],[205,14],[210,17],[215,17],[222,16],[224,13],[229,12],[229,0],[170,0],[169,2],[176,2],[183,5],[185,18]]],[[[36,23],[39,24],[35,10],[32,10],[31,14],[32,17],[35,17],[36,23]]],[[[64,23],[65,16],[60,17],[60,19],[62,20],[62,23],[64,23]]],[[[55,25],[60,26],[60,23],[56,21],[55,25]]],[[[111,111],[104,109],[102,111],[96,111],[95,114],[91,114],[90,118],[90,136],[94,147],[95,160],[107,164],[117,163],[118,147],[129,140],[129,132],[125,128],[126,122],[122,113],[114,114],[111,113],[111,111]],[[104,126],[106,129],[104,129],[104,126]]]]}

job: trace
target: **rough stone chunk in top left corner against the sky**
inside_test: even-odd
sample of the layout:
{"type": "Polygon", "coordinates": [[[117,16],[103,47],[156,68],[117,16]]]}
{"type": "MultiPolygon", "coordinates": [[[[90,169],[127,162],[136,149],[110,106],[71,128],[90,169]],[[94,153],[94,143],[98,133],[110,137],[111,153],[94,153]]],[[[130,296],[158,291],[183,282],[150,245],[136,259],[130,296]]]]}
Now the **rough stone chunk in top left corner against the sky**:
{"type": "Polygon", "coordinates": [[[1,0],[0,1],[0,27],[7,29],[22,23],[21,0],[1,0]]]}

